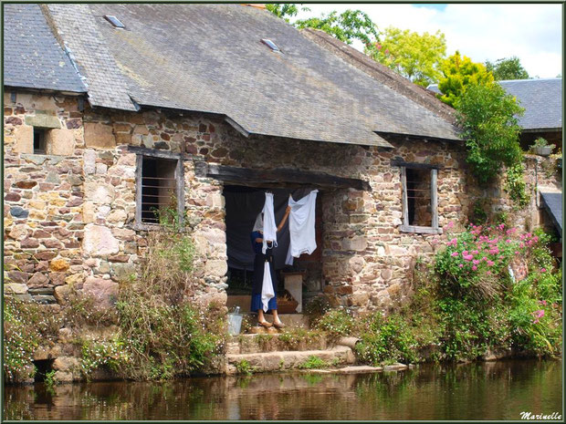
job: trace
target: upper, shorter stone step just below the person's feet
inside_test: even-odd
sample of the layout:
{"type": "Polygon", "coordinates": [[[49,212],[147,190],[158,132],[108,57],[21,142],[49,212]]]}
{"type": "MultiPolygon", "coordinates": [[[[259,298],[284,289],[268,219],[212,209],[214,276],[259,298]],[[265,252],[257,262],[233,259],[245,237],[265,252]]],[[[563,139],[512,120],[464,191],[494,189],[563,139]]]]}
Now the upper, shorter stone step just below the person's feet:
{"type": "Polygon", "coordinates": [[[255,354],[289,350],[324,350],[326,337],[320,333],[284,330],[276,334],[246,334],[232,336],[227,343],[229,354],[255,354]]]}

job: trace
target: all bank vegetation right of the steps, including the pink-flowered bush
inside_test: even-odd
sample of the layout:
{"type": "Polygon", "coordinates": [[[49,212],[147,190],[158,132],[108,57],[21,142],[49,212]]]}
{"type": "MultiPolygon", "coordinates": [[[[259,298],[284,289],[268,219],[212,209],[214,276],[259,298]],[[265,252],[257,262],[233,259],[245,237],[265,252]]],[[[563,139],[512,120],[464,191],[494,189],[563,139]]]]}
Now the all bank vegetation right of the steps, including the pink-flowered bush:
{"type": "Polygon", "coordinates": [[[354,318],[332,309],[316,326],[358,336],[359,359],[379,365],[468,361],[491,355],[561,353],[561,267],[549,236],[475,226],[448,233],[431,264],[420,264],[411,300],[393,313],[354,318]]]}

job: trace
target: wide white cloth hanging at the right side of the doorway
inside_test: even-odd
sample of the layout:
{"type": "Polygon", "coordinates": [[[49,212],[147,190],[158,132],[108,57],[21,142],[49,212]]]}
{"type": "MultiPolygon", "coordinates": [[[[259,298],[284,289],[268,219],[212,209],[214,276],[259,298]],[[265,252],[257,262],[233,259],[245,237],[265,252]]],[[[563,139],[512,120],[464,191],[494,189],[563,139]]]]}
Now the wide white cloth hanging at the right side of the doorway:
{"type": "Polygon", "coordinates": [[[309,195],[297,202],[291,196],[288,198],[288,205],[291,207],[288,216],[290,242],[285,264],[292,265],[293,257],[298,258],[302,253],[313,253],[317,248],[314,224],[318,192],[310,191],[309,195]]]}

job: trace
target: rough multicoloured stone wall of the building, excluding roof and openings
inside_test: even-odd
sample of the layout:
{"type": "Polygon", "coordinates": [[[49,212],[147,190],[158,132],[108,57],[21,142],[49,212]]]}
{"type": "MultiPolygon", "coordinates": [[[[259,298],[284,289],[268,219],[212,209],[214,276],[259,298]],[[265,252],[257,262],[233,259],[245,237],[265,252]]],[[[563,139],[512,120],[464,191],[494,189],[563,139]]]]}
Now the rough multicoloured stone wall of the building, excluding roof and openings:
{"type": "MultiPolygon", "coordinates": [[[[438,236],[403,233],[401,169],[391,160],[436,163],[440,227],[463,228],[478,199],[529,227],[499,184],[479,189],[466,177],[458,142],[396,141],[393,150],[309,140],[243,137],[222,119],[160,110],[79,110],[76,98],[5,96],[5,264],[8,289],[64,305],[69,284],[110,304],[121,279],[147,248],[134,228],[136,154],[129,146],[183,153],[184,208],[197,251],[195,297],[225,302],[222,183],[196,177],[194,161],[251,169],[291,168],[369,181],[371,191],[320,190],[324,291],[334,305],[387,309],[410,288],[414,261],[435,252],[438,236]],[[43,124],[42,124],[43,122],[43,124]],[[47,124],[45,123],[47,122],[47,124]],[[50,125],[47,155],[34,155],[32,125],[50,125]],[[55,131],[55,132],[53,132],[55,131]],[[57,154],[56,154],[57,153],[57,154]]],[[[539,159],[528,158],[534,192],[539,159]],[[532,163],[531,163],[532,162],[532,163]]],[[[555,177],[545,177],[557,185],[555,177]]],[[[537,180],[538,179],[538,180],[537,180]]],[[[546,180],[545,180],[546,181],[546,180]]],[[[533,196],[533,201],[536,196],[533,196]]]]}

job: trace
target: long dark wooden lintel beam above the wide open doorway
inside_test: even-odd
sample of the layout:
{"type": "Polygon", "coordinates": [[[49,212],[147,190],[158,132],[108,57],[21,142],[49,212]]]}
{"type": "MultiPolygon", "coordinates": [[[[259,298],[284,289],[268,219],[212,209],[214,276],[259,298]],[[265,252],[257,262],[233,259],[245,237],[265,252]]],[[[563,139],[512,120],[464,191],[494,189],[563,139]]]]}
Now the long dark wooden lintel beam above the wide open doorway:
{"type": "Polygon", "coordinates": [[[288,169],[251,170],[224,165],[195,163],[195,173],[200,177],[255,187],[320,187],[330,189],[372,190],[368,181],[338,177],[322,172],[288,169]]]}

